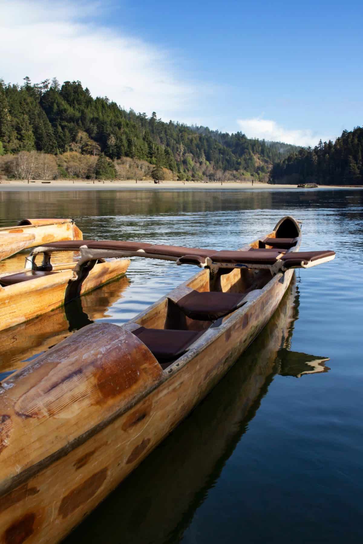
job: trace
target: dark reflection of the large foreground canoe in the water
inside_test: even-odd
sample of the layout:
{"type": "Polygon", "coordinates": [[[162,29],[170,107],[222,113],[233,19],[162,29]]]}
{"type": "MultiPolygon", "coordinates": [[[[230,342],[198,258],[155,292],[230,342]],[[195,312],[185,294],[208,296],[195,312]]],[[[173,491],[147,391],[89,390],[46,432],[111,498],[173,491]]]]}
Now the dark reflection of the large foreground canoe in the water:
{"type": "Polygon", "coordinates": [[[293,277],[272,319],[225,378],[65,544],[161,544],[182,538],[274,375],[300,377],[329,370],[324,364],[328,358],[289,349],[298,304],[293,277]]]}

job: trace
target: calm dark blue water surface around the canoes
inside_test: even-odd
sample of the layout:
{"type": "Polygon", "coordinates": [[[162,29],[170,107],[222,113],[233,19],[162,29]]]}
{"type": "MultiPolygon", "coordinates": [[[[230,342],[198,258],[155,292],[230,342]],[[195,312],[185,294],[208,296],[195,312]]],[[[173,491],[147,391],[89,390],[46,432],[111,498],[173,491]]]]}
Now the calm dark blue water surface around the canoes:
{"type": "MultiPolygon", "coordinates": [[[[84,238],[217,250],[291,214],[302,251],[337,252],[296,274],[225,379],[67,544],[363,541],[363,191],[2,192],[0,212],[0,226],[73,217],[84,238]]],[[[125,323],[195,271],[133,259],[126,278],[82,299],[83,312],[125,323]]],[[[15,329],[0,337],[0,372],[59,342],[69,323],[59,310],[15,329]]]]}

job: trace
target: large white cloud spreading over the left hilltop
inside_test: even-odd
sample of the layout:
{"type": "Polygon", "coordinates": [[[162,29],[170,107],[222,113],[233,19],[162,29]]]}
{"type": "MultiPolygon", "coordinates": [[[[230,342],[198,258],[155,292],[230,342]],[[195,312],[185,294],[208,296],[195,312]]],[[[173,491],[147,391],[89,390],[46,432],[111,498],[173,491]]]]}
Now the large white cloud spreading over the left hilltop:
{"type": "MultiPolygon", "coordinates": [[[[107,4],[106,4],[107,5],[107,4]]],[[[104,6],[104,4],[103,4],[104,6]]],[[[0,0],[5,82],[79,79],[93,96],[126,109],[178,119],[195,104],[197,87],[174,75],[170,54],[140,39],[96,26],[102,4],[0,0]]]]}

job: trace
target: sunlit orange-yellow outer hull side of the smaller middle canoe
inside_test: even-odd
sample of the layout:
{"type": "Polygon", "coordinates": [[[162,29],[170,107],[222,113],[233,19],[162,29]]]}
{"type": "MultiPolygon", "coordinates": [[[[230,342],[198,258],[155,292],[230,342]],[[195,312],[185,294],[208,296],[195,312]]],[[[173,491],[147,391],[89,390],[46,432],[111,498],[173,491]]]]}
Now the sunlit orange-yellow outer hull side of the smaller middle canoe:
{"type": "MultiPolygon", "coordinates": [[[[126,273],[130,259],[98,263],[82,283],[81,295],[126,273]]],[[[0,287],[0,331],[54,310],[64,304],[72,268],[57,274],[0,287]]]]}

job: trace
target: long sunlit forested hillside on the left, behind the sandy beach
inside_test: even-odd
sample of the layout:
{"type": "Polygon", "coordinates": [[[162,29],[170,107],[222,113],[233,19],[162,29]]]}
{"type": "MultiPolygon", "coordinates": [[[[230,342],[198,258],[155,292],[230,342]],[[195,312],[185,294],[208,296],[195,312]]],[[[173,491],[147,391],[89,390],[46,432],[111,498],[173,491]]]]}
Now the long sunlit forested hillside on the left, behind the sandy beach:
{"type": "Polygon", "coordinates": [[[127,177],[135,169],[142,177],[156,165],[180,180],[266,179],[273,162],[298,149],[241,132],[164,122],[155,112],[126,112],[107,97],[93,98],[79,81],[32,84],[26,77],[19,86],[0,80],[0,155],[7,157],[1,164],[8,175],[21,175],[21,159],[27,157],[28,164],[26,153],[37,151],[47,155],[38,156],[37,164],[52,164],[55,177],[101,176],[103,170],[127,177]],[[98,174],[96,163],[103,165],[98,174]]]}

